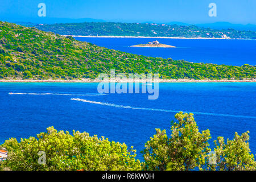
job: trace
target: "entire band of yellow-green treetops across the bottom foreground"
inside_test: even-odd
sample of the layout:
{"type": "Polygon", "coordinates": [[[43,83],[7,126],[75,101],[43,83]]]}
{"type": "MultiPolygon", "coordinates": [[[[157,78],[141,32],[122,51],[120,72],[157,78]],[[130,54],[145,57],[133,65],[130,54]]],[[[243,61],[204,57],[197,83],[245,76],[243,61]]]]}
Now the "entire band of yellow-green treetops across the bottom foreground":
{"type": "MultiPolygon", "coordinates": [[[[256,170],[250,154],[249,131],[233,140],[214,141],[214,154],[209,153],[210,131],[199,132],[193,114],[177,113],[171,136],[156,129],[156,134],[142,151],[144,162],[135,159],[136,150],[126,144],[110,142],[88,133],[47,129],[37,138],[17,142],[6,140],[2,147],[9,152],[0,169],[11,170],[256,170]],[[42,158],[44,152],[45,158],[42,158]]],[[[1,147],[1,146],[0,146],[1,147]]],[[[1,148],[0,148],[1,149],[1,148]]]]}

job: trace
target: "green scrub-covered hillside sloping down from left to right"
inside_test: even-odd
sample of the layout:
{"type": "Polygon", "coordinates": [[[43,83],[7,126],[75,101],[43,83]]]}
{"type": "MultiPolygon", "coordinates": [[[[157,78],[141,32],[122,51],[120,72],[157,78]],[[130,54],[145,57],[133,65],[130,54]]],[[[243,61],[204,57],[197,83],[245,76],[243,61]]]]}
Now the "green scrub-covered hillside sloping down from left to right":
{"type": "Polygon", "coordinates": [[[255,78],[256,67],[188,63],[134,55],[36,28],[0,22],[0,78],[96,78],[99,73],[159,73],[160,78],[255,78]]]}

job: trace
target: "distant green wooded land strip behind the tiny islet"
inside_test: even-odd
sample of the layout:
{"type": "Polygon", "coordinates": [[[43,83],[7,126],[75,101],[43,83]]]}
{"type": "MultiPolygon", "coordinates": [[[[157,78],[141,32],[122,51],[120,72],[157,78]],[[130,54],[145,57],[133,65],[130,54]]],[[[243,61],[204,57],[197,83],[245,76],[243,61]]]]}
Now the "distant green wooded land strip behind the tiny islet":
{"type": "Polygon", "coordinates": [[[212,28],[179,26],[176,24],[84,22],[44,24],[35,27],[60,35],[256,39],[255,31],[240,31],[232,28],[214,30],[212,28]]]}

